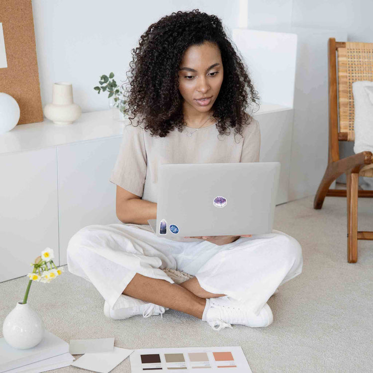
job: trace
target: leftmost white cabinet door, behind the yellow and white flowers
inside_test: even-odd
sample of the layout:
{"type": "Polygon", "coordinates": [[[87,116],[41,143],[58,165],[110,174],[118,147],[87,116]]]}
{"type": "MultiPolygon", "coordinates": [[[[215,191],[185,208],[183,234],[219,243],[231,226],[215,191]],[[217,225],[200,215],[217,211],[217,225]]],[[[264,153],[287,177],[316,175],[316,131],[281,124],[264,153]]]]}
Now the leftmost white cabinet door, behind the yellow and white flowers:
{"type": "Polygon", "coordinates": [[[32,272],[46,247],[58,266],[56,148],[3,154],[0,175],[0,281],[32,272]]]}

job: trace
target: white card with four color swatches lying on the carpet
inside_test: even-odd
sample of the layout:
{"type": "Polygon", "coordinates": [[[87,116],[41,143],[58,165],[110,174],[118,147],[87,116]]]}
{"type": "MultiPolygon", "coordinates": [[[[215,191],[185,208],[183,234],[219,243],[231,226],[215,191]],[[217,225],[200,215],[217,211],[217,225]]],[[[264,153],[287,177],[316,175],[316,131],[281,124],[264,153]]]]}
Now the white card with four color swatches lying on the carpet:
{"type": "Polygon", "coordinates": [[[180,347],[135,350],[130,355],[131,372],[251,373],[240,346],[180,347]]]}

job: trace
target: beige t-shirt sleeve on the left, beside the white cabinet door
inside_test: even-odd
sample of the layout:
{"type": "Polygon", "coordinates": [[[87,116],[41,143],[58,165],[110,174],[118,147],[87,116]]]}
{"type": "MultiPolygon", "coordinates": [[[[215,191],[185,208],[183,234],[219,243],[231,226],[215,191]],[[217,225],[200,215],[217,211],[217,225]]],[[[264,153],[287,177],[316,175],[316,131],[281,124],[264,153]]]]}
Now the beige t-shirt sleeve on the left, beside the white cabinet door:
{"type": "Polygon", "coordinates": [[[125,125],[109,181],[113,184],[142,197],[146,178],[146,148],[144,129],[138,126],[125,125]]]}

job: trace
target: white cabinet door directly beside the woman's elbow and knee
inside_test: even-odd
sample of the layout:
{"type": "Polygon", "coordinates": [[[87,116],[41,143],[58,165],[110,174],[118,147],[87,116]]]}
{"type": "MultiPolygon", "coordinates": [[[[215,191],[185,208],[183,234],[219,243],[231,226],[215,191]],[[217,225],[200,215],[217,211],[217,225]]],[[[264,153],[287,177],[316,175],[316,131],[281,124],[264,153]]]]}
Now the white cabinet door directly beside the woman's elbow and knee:
{"type": "Polygon", "coordinates": [[[93,224],[120,223],[116,186],[109,182],[122,136],[58,146],[60,263],[70,238],[93,224]]]}

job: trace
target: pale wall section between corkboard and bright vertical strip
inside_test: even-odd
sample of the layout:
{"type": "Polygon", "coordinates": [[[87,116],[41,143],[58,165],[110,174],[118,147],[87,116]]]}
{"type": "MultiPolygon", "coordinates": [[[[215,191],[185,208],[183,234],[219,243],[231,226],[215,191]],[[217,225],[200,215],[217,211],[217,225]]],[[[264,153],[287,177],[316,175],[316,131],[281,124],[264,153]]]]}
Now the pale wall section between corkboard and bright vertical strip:
{"type": "Polygon", "coordinates": [[[72,82],[83,112],[108,109],[107,93],[97,93],[99,77],[126,81],[131,49],[160,18],[198,8],[222,19],[231,36],[238,25],[239,0],[33,0],[41,100],[52,100],[54,82],[72,82]]]}

